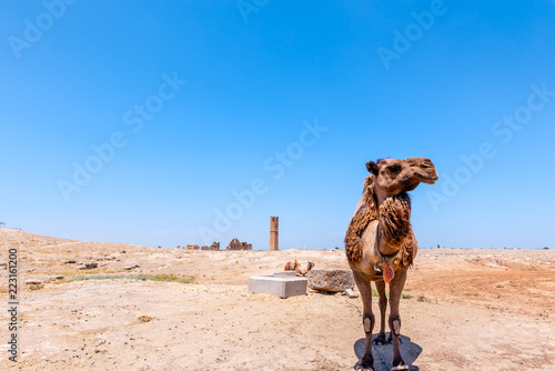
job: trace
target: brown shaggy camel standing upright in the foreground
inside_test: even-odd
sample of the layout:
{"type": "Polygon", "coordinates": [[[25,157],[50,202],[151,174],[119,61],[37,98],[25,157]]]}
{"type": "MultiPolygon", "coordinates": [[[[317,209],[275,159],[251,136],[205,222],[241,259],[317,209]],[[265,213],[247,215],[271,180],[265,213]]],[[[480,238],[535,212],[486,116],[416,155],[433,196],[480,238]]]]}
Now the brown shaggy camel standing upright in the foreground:
{"type": "Polygon", "coordinates": [[[400,351],[401,315],[398,303],[407,270],[416,255],[417,243],[411,227],[411,198],[407,192],[420,183],[437,180],[428,159],[381,159],[366,163],[371,173],[351,219],[345,235],[345,252],[363,303],[363,328],[366,338],[364,355],[356,370],[374,370],[372,357],[371,281],[375,282],[380,300],[381,325],[376,344],[393,343],[393,369],[408,370],[400,351]],[[390,338],[385,340],[385,284],[390,284],[390,338]]]}

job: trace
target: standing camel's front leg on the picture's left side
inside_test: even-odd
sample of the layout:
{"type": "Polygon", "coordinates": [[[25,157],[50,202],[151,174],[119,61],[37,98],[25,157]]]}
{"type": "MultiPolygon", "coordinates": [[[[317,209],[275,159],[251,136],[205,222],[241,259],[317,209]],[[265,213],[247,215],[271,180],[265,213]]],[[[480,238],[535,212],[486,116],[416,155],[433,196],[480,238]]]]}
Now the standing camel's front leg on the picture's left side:
{"type": "Polygon", "coordinates": [[[372,330],[374,329],[374,313],[372,312],[372,288],[370,287],[370,278],[361,272],[353,270],[353,278],[359,291],[361,292],[363,314],[362,324],[366,344],[364,355],[356,370],[374,370],[374,357],[372,355],[372,330]]]}

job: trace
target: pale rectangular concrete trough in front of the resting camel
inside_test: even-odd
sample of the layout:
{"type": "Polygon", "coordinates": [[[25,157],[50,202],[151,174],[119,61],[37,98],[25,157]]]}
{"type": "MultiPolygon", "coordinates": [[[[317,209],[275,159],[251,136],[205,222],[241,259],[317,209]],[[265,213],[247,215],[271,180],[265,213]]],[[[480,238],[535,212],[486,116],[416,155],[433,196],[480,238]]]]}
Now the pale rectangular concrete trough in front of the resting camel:
{"type": "Polygon", "coordinates": [[[270,293],[286,299],[305,295],[307,280],[296,277],[295,272],[279,272],[274,275],[253,275],[249,279],[249,292],[270,293]]]}

